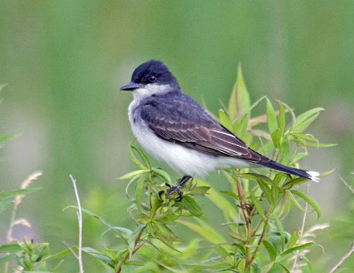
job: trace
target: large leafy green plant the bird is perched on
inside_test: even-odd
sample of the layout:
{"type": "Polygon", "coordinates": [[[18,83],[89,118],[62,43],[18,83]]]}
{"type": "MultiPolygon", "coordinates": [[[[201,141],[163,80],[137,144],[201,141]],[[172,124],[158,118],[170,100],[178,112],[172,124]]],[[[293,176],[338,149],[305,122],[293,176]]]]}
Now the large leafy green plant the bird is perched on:
{"type": "MultiPolygon", "coordinates": [[[[299,167],[298,161],[307,156],[307,147],[333,146],[304,133],[322,108],[296,116],[284,102],[277,104],[276,111],[271,101],[262,97],[251,105],[239,67],[228,109],[219,110],[219,121],[256,151],[293,167],[299,167]],[[261,101],[266,101],[266,114],[253,117],[251,111],[261,101]]],[[[310,262],[298,265],[294,257],[301,255],[306,260],[316,242],[313,238],[304,240],[307,233],[288,233],[283,226],[292,208],[321,216],[317,201],[301,190],[303,183],[311,181],[267,169],[226,169],[222,174],[229,188],[218,192],[212,184],[193,179],[183,188],[182,201],[177,201],[165,195],[172,183],[169,174],[151,166],[144,151],[133,142],[129,151],[137,170],[120,179],[128,180],[128,213],[136,228],[114,226],[83,209],[107,226],[104,234],[112,232],[120,239],[118,247],[106,246],[103,251],[83,248],[115,272],[289,272],[295,265],[297,270],[311,267],[310,262]],[[219,225],[228,229],[228,238],[203,216],[198,199],[205,197],[224,214],[224,223],[219,225]],[[174,225],[185,226],[198,238],[181,242],[171,229],[174,225]],[[199,251],[201,244],[203,251],[199,251]]]]}

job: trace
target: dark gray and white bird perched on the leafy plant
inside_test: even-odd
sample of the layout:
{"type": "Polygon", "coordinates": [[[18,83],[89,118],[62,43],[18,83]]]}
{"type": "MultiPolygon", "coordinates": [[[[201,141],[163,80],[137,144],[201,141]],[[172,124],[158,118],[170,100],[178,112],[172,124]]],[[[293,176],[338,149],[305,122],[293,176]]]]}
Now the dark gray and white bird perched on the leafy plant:
{"type": "Polygon", "coordinates": [[[318,172],[287,167],[253,151],[220,124],[180,88],[176,77],[160,60],[135,68],[130,83],[120,90],[133,93],[128,106],[137,142],[156,159],[183,175],[167,190],[170,199],[194,177],[214,169],[267,167],[278,172],[319,181],[318,172]]]}

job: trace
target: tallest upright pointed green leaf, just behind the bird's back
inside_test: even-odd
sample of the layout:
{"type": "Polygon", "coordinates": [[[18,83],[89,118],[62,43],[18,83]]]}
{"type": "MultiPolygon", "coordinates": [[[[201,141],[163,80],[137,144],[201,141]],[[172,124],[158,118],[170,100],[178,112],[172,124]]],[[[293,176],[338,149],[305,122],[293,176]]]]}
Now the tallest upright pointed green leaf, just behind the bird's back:
{"type": "Polygon", "coordinates": [[[244,83],[242,68],[239,65],[237,69],[237,80],[231,91],[230,101],[228,101],[228,116],[231,121],[241,117],[248,112],[250,108],[249,94],[244,83]]]}

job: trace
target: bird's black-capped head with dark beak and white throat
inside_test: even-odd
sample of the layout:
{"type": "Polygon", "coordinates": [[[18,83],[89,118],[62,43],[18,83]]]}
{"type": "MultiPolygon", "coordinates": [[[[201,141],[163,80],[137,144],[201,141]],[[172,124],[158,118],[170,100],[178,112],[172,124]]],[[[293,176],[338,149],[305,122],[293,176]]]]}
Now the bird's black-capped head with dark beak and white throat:
{"type": "Polygon", "coordinates": [[[149,97],[179,89],[176,78],[160,60],[149,60],[139,65],[135,68],[130,83],[120,88],[123,91],[132,91],[134,97],[149,97]]]}

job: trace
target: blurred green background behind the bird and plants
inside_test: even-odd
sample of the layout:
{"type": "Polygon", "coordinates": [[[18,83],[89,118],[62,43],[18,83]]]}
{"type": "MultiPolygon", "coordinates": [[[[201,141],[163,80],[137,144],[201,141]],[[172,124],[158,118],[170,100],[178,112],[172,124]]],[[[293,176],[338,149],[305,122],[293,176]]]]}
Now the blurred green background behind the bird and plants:
{"type": "MultiPolygon", "coordinates": [[[[133,170],[127,148],[132,97],[117,92],[119,86],[140,63],[160,59],[187,94],[216,113],[242,63],[252,101],[267,94],[296,113],[326,109],[309,133],[339,146],[312,149],[303,165],[336,168],[310,188],[323,210],[320,223],[331,225],[319,234],[324,254],[319,249],[310,258],[315,272],[328,269],[353,240],[353,197],[339,180],[350,181],[353,169],[353,14],[354,1],[0,1],[0,83],[8,83],[0,133],[22,133],[1,150],[0,190],[19,188],[28,174],[44,171],[33,184],[44,190],[19,208],[33,227],[15,235],[51,242],[53,251],[65,248],[62,241],[76,244],[76,215],[62,211],[75,204],[69,174],[78,179],[85,208],[133,226],[126,181],[117,180],[133,170]]],[[[264,111],[262,104],[255,113],[264,111]]],[[[299,217],[293,214],[289,229],[299,229],[299,217]]],[[[4,215],[0,242],[7,224],[4,215]]],[[[99,248],[103,227],[85,218],[84,229],[84,245],[99,248]]],[[[74,258],[66,260],[63,272],[76,269],[74,258]]],[[[86,272],[102,268],[87,256],[85,263],[86,272]]]]}

